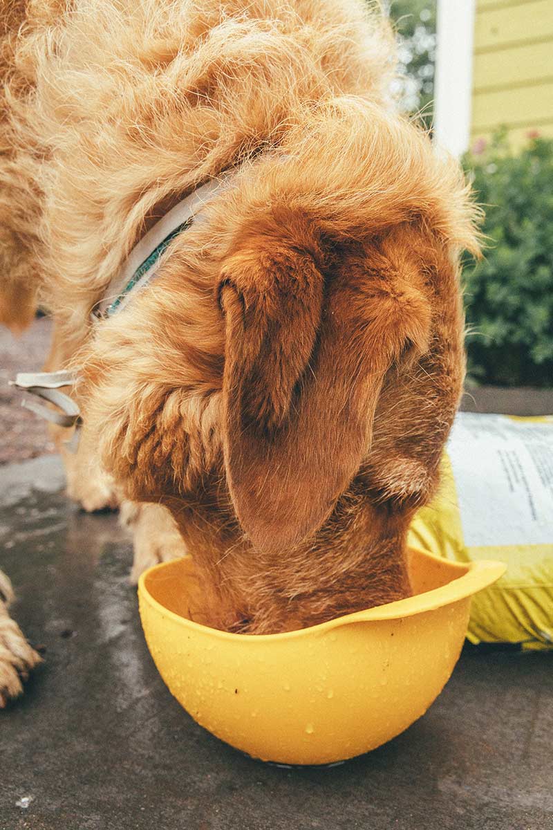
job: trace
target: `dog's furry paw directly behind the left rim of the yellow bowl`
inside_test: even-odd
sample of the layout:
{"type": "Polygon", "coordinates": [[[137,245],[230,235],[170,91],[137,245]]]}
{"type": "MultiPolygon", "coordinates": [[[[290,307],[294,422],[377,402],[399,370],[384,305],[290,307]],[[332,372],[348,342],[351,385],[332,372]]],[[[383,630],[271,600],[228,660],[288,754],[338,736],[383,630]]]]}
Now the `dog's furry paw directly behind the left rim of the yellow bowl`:
{"type": "Polygon", "coordinates": [[[131,583],[137,583],[140,574],[152,565],[180,559],[187,554],[187,546],[166,507],[124,501],[120,520],[133,533],[131,583]]]}

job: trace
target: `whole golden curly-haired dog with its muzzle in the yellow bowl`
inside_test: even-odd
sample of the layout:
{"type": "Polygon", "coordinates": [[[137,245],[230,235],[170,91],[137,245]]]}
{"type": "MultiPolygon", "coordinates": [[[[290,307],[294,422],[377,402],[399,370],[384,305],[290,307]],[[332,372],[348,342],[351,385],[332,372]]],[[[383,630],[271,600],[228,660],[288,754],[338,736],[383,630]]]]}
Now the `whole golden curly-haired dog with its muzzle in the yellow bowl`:
{"type": "MultiPolygon", "coordinates": [[[[80,367],[70,495],[132,502],[134,576],[190,550],[216,627],[404,597],[405,532],[463,379],[458,258],[478,240],[458,164],[394,110],[386,20],[361,0],[2,15],[0,310],[22,327],[38,296],[48,368],[80,367]],[[155,280],[92,321],[156,219],[229,170],[155,280]]],[[[35,659],[13,631],[4,698],[35,659]]]]}

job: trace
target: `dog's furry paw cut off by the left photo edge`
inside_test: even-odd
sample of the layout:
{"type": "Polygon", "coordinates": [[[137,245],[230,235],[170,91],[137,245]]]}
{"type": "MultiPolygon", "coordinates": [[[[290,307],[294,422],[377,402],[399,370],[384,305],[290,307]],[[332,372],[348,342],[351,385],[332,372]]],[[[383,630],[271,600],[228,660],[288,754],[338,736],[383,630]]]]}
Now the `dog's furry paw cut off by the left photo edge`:
{"type": "Polygon", "coordinates": [[[22,681],[41,662],[40,655],[29,645],[21,628],[7,613],[12,599],[12,584],[0,571],[0,709],[12,697],[21,695],[22,681]]]}

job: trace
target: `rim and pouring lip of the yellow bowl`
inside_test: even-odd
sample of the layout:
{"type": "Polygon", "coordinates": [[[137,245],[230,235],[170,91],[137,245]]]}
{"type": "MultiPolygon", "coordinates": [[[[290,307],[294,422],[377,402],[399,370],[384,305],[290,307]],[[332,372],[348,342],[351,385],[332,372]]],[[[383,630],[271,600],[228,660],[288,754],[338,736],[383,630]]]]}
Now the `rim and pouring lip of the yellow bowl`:
{"type": "Polygon", "coordinates": [[[371,623],[383,622],[390,620],[400,620],[406,617],[414,617],[417,614],[426,613],[428,611],[435,611],[437,608],[444,608],[447,605],[452,605],[459,600],[472,597],[474,593],[488,588],[489,585],[496,582],[507,570],[507,565],[494,559],[479,559],[473,562],[459,563],[453,562],[450,559],[445,559],[441,556],[430,554],[426,550],[422,550],[416,546],[410,545],[410,550],[415,551],[417,555],[431,559],[434,562],[447,564],[454,571],[459,572],[458,577],[451,579],[445,585],[439,588],[431,588],[429,591],[415,594],[412,597],[405,599],[396,599],[392,603],[385,605],[377,605],[374,608],[367,608],[365,611],[356,611],[351,614],[345,614],[342,617],[336,617],[332,620],[327,620],[326,623],[318,623],[317,625],[308,626],[306,628],[297,628],[293,631],[279,632],[276,634],[235,634],[232,632],[221,631],[218,628],[211,628],[202,623],[195,623],[187,617],[182,617],[169,608],[165,608],[162,603],[153,598],[152,594],[146,587],[146,580],[149,574],[154,571],[162,571],[167,567],[174,567],[177,562],[182,559],[190,557],[182,557],[182,559],[171,559],[169,562],[162,562],[153,565],[152,568],[144,571],[138,579],[138,598],[148,603],[156,611],[161,612],[164,616],[172,619],[174,622],[182,625],[185,628],[192,628],[193,631],[209,634],[211,637],[217,639],[235,641],[235,642],[276,642],[277,640],[289,640],[297,637],[306,637],[312,634],[321,634],[323,632],[331,631],[333,628],[341,627],[343,625],[352,625],[354,623],[371,623]]]}

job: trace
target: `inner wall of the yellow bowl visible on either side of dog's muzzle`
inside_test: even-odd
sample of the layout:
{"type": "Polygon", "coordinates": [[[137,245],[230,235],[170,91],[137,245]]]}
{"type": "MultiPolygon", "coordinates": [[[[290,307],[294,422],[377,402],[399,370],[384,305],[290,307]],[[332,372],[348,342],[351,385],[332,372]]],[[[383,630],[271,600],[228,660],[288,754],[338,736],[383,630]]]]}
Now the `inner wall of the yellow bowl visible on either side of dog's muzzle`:
{"type": "MultiPolygon", "coordinates": [[[[468,565],[449,562],[448,559],[436,559],[416,549],[409,551],[407,564],[415,596],[434,588],[441,588],[462,577],[469,569],[468,565]]],[[[177,559],[149,570],[144,574],[143,587],[155,602],[178,617],[209,625],[208,621],[202,618],[201,584],[194,574],[192,557],[177,559]]],[[[405,600],[393,604],[400,606],[403,602],[405,600]]],[[[400,608],[397,615],[400,616],[400,608]]]]}

